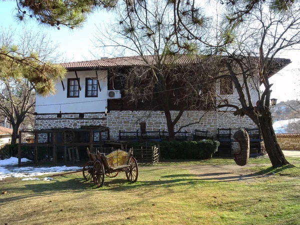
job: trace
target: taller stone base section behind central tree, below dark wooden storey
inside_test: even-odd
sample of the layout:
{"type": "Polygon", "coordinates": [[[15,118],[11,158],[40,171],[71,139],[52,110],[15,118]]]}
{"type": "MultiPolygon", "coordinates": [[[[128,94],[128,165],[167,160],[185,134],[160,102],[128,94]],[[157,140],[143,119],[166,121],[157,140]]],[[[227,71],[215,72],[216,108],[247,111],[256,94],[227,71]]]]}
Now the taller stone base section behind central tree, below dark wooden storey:
{"type": "MultiPolygon", "coordinates": [[[[246,116],[240,119],[231,112],[208,112],[205,111],[185,111],[175,125],[175,130],[180,126],[194,123],[184,127],[181,131],[187,131],[189,139],[195,129],[208,130],[208,136],[217,133],[219,128],[239,129],[241,127],[255,128],[256,125],[246,116]],[[204,114],[204,115],[203,115],[204,114]],[[201,120],[200,117],[203,115],[201,120]]],[[[172,118],[175,118],[177,111],[171,111],[172,118]]],[[[107,115],[107,126],[110,129],[110,137],[117,138],[118,130],[135,131],[140,129],[140,122],[146,123],[146,130],[167,130],[166,119],[163,111],[110,111],[107,115]],[[113,128],[112,128],[113,127],[113,128]]]]}

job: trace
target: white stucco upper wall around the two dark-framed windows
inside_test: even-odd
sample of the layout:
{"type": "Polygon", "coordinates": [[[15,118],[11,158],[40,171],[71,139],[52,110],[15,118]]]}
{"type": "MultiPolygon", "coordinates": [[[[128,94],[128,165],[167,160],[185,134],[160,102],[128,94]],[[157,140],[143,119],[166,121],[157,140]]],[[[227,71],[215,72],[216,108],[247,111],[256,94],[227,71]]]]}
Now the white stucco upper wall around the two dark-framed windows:
{"type": "Polygon", "coordinates": [[[79,97],[67,97],[67,78],[76,78],[75,72],[67,72],[63,79],[64,90],[59,81],[55,84],[56,93],[46,97],[36,96],[37,113],[103,112],[107,105],[107,70],[97,70],[101,91],[97,97],[85,97],[85,78],[96,77],[95,70],[77,71],[81,91],[79,97]]]}

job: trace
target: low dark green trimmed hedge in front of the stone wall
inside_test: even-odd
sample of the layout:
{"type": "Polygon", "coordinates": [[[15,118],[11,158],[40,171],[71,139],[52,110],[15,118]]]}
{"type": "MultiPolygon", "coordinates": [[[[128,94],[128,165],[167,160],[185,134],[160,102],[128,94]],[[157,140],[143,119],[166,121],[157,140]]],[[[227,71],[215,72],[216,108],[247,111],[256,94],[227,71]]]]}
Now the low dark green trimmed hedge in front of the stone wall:
{"type": "Polygon", "coordinates": [[[128,142],[127,147],[137,145],[158,145],[160,158],[165,159],[207,159],[217,151],[219,142],[215,140],[199,141],[161,141],[161,142],[128,142]]]}

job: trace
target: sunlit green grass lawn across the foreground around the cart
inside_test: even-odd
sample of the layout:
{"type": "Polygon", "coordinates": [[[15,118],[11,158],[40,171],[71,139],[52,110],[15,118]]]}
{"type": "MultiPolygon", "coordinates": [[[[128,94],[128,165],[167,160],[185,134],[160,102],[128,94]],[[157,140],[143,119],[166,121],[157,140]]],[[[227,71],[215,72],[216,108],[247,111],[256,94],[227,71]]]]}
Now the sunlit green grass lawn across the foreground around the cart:
{"type": "Polygon", "coordinates": [[[81,173],[52,181],[0,181],[1,224],[300,224],[300,158],[273,169],[268,158],[244,168],[260,179],[205,179],[192,169],[232,159],[140,166],[136,183],[125,174],[96,188],[81,173]],[[182,166],[184,165],[184,166],[182,166]],[[196,165],[196,167],[195,167],[196,165]]]}

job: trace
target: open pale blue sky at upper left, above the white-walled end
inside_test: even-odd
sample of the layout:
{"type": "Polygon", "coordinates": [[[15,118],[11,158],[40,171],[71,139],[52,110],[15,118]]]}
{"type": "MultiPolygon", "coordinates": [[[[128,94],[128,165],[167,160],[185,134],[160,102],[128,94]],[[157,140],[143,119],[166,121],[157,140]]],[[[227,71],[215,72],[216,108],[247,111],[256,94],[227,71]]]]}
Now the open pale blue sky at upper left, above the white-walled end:
{"type": "Polygon", "coordinates": [[[63,52],[67,60],[80,61],[91,59],[89,51],[93,51],[96,55],[102,55],[99,50],[93,49],[91,39],[96,32],[96,24],[102,22],[109,22],[112,18],[105,11],[99,11],[91,14],[82,28],[70,29],[67,27],[60,27],[57,30],[54,27],[38,25],[38,23],[31,19],[26,22],[17,22],[15,15],[15,1],[1,1],[0,2],[0,25],[4,28],[12,27],[13,29],[21,29],[25,26],[28,29],[41,30],[51,37],[54,42],[59,44],[59,51],[63,52]]]}

